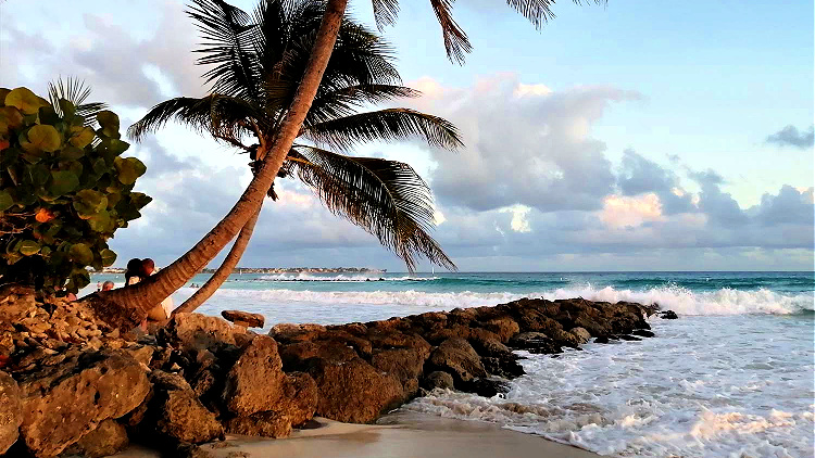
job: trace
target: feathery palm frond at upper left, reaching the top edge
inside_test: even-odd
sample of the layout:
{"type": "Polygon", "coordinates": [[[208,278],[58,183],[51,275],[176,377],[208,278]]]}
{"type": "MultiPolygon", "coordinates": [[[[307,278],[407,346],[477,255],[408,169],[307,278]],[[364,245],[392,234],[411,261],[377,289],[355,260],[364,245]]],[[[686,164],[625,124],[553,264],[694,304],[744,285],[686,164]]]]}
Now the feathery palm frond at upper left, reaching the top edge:
{"type": "Polygon", "coordinates": [[[213,65],[203,74],[212,92],[259,101],[256,56],[253,53],[255,25],[243,10],[223,0],[192,0],[187,14],[201,34],[204,54],[199,65],[213,65]]]}

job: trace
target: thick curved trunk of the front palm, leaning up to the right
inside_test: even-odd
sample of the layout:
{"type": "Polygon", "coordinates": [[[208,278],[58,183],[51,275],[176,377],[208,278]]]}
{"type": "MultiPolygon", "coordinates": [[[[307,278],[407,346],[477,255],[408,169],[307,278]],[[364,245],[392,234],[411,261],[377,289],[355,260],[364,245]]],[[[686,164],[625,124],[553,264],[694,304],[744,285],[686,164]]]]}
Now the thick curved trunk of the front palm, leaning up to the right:
{"type": "Polygon", "coordinates": [[[294,99],[272,145],[267,144],[268,138],[260,139],[261,147],[258,153],[264,157],[263,165],[240,200],[203,239],[159,273],[135,285],[87,297],[86,303],[99,319],[114,328],[138,325],[150,308],[173,294],[206,266],[259,211],[317,93],[337,41],[347,4],[348,0],[328,0],[309,65],[294,99]]]}

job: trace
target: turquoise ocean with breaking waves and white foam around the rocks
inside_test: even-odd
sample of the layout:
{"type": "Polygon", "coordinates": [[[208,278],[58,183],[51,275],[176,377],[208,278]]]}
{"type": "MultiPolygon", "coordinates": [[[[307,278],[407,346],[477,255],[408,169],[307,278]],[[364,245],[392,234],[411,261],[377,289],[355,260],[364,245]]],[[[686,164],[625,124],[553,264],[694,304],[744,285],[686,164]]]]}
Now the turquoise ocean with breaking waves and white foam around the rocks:
{"type": "MultiPolygon", "coordinates": [[[[208,276],[197,276],[201,284],[208,276]]],[[[98,275],[92,280],[122,276],[98,275]]],[[[88,287],[85,292],[95,289],[88,287]]],[[[195,290],[183,288],[176,304],[195,290]]],[[[813,457],[813,272],[234,275],[199,311],[343,323],[521,297],[657,303],[656,338],[531,355],[504,395],[436,392],[403,409],[623,457],[813,457]]]]}

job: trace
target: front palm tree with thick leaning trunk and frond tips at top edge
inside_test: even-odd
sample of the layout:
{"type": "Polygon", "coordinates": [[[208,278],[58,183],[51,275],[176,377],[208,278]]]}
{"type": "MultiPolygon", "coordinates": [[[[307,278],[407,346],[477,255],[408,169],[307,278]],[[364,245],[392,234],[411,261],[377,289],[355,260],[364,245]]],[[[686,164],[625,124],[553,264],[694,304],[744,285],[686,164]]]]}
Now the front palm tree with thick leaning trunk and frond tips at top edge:
{"type": "MultiPolygon", "coordinates": [[[[256,12],[265,11],[264,4],[284,0],[261,0],[256,12]]],[[[380,26],[396,20],[398,0],[372,0],[377,22],[380,26]]],[[[580,3],[580,0],[573,0],[580,3]]],[[[603,0],[594,0],[601,2],[603,0]]],[[[554,0],[506,0],[507,4],[526,16],[536,27],[540,28],[544,22],[553,16],[551,5],[554,0]]],[[[199,0],[196,2],[200,12],[204,12],[211,27],[211,33],[204,30],[208,43],[213,50],[223,49],[213,63],[220,68],[240,68],[244,59],[243,43],[246,35],[251,28],[250,18],[246,13],[225,3],[223,0],[199,0]],[[227,51],[231,46],[241,52],[227,51]]],[[[466,35],[452,18],[451,0],[430,0],[442,28],[444,47],[452,61],[462,62],[463,55],[471,47],[466,35]]],[[[274,130],[261,132],[255,156],[261,161],[254,178],[243,194],[224,218],[206,233],[192,249],[162,269],[159,275],[148,281],[138,283],[134,288],[113,290],[105,294],[93,295],[88,298],[97,315],[112,326],[130,326],[138,322],[153,304],[156,304],[184,285],[192,276],[201,270],[217,253],[235,238],[243,226],[261,207],[264,195],[286,162],[294,140],[305,122],[312,102],[317,96],[321,80],[326,72],[335,49],[340,26],[346,12],[348,0],[328,0],[323,13],[319,28],[314,37],[308,65],[299,79],[294,96],[288,110],[274,130]]],[[[258,15],[258,13],[255,13],[258,15]]],[[[235,72],[236,75],[239,72],[235,72]]],[[[243,74],[241,78],[252,78],[252,74],[243,74]]],[[[236,81],[237,82],[237,81],[236,81]]]]}

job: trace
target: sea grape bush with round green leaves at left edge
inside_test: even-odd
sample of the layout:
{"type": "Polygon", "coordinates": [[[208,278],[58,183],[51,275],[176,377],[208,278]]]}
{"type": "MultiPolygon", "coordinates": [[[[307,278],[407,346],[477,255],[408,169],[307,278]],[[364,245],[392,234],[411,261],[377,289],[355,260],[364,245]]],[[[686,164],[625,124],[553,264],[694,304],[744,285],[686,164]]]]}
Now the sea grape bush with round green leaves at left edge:
{"type": "Polygon", "coordinates": [[[76,109],[0,88],[0,283],[77,292],[88,266],[113,264],[108,239],[151,201],[133,191],[147,168],[122,157],[118,116],[76,109]]]}

